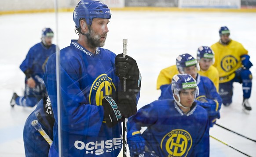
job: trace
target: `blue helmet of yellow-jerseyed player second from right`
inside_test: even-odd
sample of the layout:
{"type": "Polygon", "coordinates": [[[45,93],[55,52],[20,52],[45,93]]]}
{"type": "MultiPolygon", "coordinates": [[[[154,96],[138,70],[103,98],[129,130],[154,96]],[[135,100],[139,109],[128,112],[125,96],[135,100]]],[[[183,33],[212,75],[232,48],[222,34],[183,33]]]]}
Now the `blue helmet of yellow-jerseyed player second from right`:
{"type": "Polygon", "coordinates": [[[200,46],[197,49],[197,61],[201,58],[212,59],[212,62],[214,62],[214,52],[208,46],[200,46]]]}

